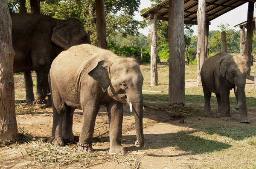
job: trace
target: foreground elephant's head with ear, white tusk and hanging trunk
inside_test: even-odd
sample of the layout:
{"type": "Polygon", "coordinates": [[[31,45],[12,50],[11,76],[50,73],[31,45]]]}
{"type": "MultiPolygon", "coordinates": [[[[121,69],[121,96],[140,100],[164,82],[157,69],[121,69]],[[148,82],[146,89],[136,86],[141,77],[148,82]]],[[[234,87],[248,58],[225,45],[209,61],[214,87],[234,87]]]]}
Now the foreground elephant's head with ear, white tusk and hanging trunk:
{"type": "Polygon", "coordinates": [[[90,71],[104,92],[115,101],[128,103],[130,110],[134,110],[135,127],[137,133],[136,147],[144,145],[143,135],[143,76],[140,66],[133,58],[111,58],[99,61],[96,68],[90,71]],[[96,73],[97,72],[97,73],[96,73]]]}

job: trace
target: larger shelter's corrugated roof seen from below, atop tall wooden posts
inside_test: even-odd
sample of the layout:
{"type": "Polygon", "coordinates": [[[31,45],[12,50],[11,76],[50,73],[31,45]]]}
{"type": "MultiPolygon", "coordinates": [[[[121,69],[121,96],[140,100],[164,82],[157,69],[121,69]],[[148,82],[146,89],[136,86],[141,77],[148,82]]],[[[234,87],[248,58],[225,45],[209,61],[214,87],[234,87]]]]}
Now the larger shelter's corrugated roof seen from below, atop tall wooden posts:
{"type": "MultiPolygon", "coordinates": [[[[256,0],[206,0],[206,21],[214,20],[216,17],[237,8],[248,1],[256,2],[256,0]]],[[[197,24],[198,0],[184,0],[184,23],[197,24]]],[[[140,16],[148,17],[156,14],[158,20],[168,21],[169,17],[169,0],[153,6],[140,16]]]]}

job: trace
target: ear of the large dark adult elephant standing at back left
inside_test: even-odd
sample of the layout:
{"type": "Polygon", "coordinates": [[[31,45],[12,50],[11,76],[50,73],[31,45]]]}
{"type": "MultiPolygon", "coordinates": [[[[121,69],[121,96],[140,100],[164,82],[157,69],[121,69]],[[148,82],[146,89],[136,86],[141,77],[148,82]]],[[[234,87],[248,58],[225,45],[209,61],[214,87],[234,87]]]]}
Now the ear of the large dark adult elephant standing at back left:
{"type": "Polygon", "coordinates": [[[59,25],[53,28],[51,41],[65,50],[69,49],[71,46],[67,25],[59,25]]]}

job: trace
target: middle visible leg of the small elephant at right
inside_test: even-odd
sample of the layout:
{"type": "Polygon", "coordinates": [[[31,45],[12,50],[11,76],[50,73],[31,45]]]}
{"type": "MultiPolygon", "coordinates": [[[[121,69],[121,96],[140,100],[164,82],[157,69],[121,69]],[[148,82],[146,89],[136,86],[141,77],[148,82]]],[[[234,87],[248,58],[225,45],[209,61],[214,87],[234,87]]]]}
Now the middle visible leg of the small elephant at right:
{"type": "Polygon", "coordinates": [[[222,120],[231,120],[230,118],[230,91],[226,90],[221,92],[221,109],[222,109],[222,120]]]}

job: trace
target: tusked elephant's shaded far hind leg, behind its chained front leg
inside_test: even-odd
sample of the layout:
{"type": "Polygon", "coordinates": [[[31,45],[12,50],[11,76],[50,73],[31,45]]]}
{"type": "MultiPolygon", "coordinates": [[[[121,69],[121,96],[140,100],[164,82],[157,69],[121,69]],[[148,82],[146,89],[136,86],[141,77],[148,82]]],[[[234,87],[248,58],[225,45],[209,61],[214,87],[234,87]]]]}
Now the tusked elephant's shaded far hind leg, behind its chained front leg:
{"type": "Polygon", "coordinates": [[[65,140],[74,141],[73,135],[73,114],[76,108],[67,106],[62,121],[62,135],[65,140]]]}

